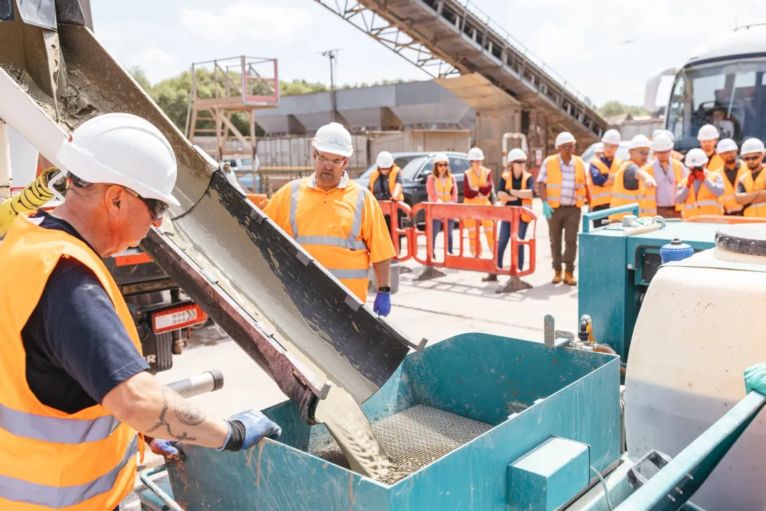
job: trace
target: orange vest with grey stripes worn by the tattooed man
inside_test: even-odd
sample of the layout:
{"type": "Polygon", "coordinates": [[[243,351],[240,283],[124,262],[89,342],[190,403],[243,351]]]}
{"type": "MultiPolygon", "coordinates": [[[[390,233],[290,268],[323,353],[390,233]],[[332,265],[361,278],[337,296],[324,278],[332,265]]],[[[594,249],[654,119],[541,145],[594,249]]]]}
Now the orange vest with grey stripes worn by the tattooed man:
{"type": "Polygon", "coordinates": [[[75,414],[43,405],[27,383],[21,329],[58,260],[74,257],[96,275],[139,352],[141,343],[100,257],[38,220],[20,215],[0,243],[0,509],[114,509],[133,491],[142,437],[101,405],[75,414]]]}

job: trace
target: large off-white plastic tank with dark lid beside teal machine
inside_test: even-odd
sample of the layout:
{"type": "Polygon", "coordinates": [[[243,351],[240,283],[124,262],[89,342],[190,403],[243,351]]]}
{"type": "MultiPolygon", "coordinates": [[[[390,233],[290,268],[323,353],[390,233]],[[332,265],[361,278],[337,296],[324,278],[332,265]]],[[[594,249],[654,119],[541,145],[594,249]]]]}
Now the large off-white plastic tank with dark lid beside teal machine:
{"type": "MultiPolygon", "coordinates": [[[[766,362],[766,225],[722,225],[715,243],[661,267],[643,300],[625,380],[630,457],[675,457],[745,397],[745,369],[766,362]]],[[[764,480],[761,413],[692,502],[766,509],[764,480]]]]}

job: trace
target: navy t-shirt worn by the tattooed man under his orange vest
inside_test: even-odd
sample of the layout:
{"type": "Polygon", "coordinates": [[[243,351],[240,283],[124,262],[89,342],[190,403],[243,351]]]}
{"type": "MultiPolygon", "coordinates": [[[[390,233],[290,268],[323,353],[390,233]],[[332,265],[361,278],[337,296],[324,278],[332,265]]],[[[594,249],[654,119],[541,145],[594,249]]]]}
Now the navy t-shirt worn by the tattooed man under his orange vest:
{"type": "MultiPolygon", "coordinates": [[[[41,227],[87,244],[67,221],[44,211],[34,216],[43,218],[41,227]]],[[[32,393],[67,414],[100,404],[117,385],[149,369],[96,275],[71,257],[62,257],[48,277],[21,340],[32,393]]]]}

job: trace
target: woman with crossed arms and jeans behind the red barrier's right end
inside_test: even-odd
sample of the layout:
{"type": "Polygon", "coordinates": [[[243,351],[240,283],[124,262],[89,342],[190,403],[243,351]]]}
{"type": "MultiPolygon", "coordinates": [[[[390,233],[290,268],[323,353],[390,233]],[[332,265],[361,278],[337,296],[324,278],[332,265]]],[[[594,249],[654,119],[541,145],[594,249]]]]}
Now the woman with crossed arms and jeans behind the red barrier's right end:
{"type": "MultiPolygon", "coordinates": [[[[497,197],[506,206],[523,206],[532,209],[532,195],[535,178],[526,172],[526,154],[521,149],[511,149],[508,154],[509,171],[503,172],[497,185],[497,197]]],[[[526,230],[532,218],[521,215],[519,220],[519,239],[526,237],[526,230]]],[[[500,235],[497,241],[497,267],[502,268],[502,257],[511,239],[511,223],[500,222],[500,235]]],[[[524,268],[524,246],[519,247],[519,270],[524,268]]]]}

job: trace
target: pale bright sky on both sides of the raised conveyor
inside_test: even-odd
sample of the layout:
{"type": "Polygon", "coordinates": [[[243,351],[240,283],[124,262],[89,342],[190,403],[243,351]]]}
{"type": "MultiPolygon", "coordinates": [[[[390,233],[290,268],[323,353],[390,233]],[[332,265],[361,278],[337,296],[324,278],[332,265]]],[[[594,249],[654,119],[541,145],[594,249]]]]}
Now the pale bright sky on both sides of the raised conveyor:
{"type": "MultiPolygon", "coordinates": [[[[428,78],[314,0],[90,1],[97,38],[152,83],[192,62],[241,54],[276,57],[283,80],[329,83],[320,53],[333,48],[341,48],[341,84],[428,78]]],[[[699,44],[736,25],[766,22],[762,0],[471,3],[599,105],[642,104],[656,72],[679,67],[699,44]]]]}

